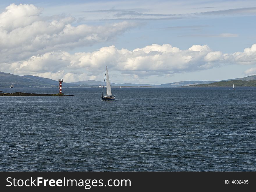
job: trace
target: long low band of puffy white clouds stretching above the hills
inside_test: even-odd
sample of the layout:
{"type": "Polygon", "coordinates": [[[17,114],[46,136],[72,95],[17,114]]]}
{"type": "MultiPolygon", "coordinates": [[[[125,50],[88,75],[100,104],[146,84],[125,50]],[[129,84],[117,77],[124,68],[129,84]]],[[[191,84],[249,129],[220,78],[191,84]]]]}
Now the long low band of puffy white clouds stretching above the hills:
{"type": "MultiPolygon", "coordinates": [[[[47,52],[8,64],[8,68],[19,75],[33,74],[53,79],[61,75],[69,81],[79,81],[97,80],[105,66],[123,75],[145,77],[200,71],[224,64],[256,64],[256,44],[233,54],[213,51],[207,45],[180,50],[170,44],[153,44],[132,51],[112,45],[94,52],[47,52]]],[[[0,65],[0,70],[4,67],[0,65]]]]}

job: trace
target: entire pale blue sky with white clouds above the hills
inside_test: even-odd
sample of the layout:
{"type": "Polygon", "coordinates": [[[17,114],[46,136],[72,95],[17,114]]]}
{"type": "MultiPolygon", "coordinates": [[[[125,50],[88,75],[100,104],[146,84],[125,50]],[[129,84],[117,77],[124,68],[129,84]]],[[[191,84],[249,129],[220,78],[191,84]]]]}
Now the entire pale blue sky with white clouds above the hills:
{"type": "Polygon", "coordinates": [[[0,71],[162,84],[256,75],[256,1],[0,2],[0,71]]]}

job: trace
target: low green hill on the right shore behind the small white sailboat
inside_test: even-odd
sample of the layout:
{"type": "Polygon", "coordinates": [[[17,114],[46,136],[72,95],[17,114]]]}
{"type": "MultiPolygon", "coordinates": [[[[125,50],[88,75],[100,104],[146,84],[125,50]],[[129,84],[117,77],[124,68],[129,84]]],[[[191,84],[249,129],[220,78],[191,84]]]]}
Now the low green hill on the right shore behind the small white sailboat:
{"type": "Polygon", "coordinates": [[[189,87],[256,87],[256,79],[250,81],[242,81],[242,80],[231,80],[231,81],[218,81],[209,84],[201,84],[201,85],[191,85],[189,87]]]}

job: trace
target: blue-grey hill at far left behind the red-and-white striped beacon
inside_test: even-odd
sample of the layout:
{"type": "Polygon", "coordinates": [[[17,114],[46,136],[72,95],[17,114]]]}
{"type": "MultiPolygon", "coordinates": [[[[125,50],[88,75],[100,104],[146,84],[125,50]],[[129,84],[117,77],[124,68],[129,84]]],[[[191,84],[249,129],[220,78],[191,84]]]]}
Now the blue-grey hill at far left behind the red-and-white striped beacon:
{"type": "MultiPolygon", "coordinates": [[[[0,72],[0,87],[58,87],[58,81],[36,77],[33,75],[13,75],[11,73],[0,72]]],[[[63,87],[77,87],[76,84],[63,82],[63,87]]]]}

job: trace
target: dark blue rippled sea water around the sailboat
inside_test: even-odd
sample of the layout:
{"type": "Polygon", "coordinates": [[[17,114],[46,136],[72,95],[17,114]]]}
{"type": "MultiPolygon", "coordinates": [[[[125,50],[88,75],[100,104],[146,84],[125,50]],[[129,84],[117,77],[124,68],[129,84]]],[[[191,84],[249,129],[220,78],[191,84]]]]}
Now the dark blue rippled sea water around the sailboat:
{"type": "MultiPolygon", "coordinates": [[[[0,89],[58,93],[58,89],[0,89]]],[[[1,171],[256,171],[256,88],[0,97],[1,171]]]]}

